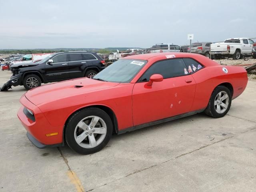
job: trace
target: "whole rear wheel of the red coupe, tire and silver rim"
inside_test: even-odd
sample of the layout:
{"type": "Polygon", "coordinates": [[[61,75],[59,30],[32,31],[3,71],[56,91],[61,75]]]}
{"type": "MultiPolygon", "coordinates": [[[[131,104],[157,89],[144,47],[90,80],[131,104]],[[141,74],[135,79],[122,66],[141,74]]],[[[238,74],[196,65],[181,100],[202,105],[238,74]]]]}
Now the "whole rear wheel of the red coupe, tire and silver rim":
{"type": "Polygon", "coordinates": [[[230,90],[225,86],[218,86],[212,92],[208,106],[204,112],[214,118],[223,117],[230,109],[231,100],[230,90]]]}

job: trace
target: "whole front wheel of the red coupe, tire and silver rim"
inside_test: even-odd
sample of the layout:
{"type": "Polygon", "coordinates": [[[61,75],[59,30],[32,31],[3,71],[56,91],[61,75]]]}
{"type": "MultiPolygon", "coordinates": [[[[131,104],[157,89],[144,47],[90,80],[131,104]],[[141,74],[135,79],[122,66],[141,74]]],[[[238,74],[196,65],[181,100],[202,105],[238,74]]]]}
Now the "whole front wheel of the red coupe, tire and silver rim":
{"type": "Polygon", "coordinates": [[[86,108],[74,113],[65,126],[68,146],[80,154],[98,152],[110,140],[113,124],[108,114],[99,108],[86,108]]]}

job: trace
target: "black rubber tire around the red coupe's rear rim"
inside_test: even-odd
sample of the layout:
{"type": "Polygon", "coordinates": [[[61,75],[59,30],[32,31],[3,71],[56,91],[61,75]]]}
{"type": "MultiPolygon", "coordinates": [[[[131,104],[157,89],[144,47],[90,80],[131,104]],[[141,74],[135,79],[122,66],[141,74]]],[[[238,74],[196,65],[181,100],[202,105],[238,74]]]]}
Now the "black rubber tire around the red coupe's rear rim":
{"type": "Polygon", "coordinates": [[[223,117],[228,113],[230,106],[231,106],[231,101],[232,101],[232,97],[231,97],[230,90],[225,86],[218,86],[213,90],[212,95],[209,100],[209,103],[208,103],[208,106],[204,110],[204,113],[206,115],[214,117],[214,118],[223,117]],[[215,98],[218,95],[218,93],[220,93],[220,92],[226,92],[228,94],[228,99],[229,99],[228,107],[226,108],[226,111],[223,113],[218,113],[214,106],[215,98]]]}

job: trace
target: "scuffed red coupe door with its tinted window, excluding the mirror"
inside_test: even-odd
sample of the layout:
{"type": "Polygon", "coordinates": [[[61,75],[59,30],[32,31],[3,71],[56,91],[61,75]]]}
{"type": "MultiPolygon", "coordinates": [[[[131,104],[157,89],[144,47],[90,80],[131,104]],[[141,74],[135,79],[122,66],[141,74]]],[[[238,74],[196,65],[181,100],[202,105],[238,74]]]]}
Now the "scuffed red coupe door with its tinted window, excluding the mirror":
{"type": "Polygon", "coordinates": [[[156,62],[142,75],[132,92],[134,126],[184,114],[193,104],[196,83],[182,58],[156,62]],[[161,74],[162,82],[146,88],[152,74],[161,74]]]}

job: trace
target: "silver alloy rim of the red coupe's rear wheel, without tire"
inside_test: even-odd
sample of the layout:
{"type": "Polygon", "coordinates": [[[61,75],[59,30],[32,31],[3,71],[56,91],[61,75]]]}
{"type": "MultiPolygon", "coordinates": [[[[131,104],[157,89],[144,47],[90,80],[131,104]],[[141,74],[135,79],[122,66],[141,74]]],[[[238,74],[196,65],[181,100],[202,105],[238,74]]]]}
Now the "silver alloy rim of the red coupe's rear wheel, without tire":
{"type": "Polygon", "coordinates": [[[225,91],[221,91],[217,94],[214,100],[214,108],[217,113],[222,114],[224,113],[229,104],[229,97],[225,91]]]}

